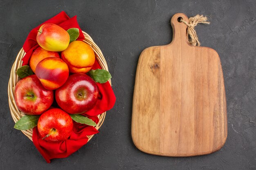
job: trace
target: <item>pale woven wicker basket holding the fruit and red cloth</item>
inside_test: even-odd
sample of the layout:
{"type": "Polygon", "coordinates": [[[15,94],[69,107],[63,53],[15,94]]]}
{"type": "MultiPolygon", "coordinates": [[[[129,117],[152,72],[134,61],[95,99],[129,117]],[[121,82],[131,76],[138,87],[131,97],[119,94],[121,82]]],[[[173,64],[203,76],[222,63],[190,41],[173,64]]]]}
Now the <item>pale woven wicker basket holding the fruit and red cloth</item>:
{"type": "MultiPolygon", "coordinates": [[[[95,52],[95,56],[97,58],[97,60],[99,61],[99,64],[101,65],[101,67],[105,70],[108,71],[108,65],[107,62],[101,52],[101,50],[99,49],[99,47],[93,42],[92,38],[90,37],[90,35],[88,35],[87,33],[85,33],[83,31],[83,35],[85,36],[85,39],[83,40],[84,42],[86,42],[87,44],[89,44],[92,49],[95,52]]],[[[18,53],[15,62],[13,63],[13,66],[11,68],[11,75],[10,75],[10,79],[9,79],[9,85],[8,85],[8,96],[9,96],[9,106],[10,106],[10,111],[11,111],[11,116],[14,120],[14,122],[16,123],[22,116],[24,116],[24,113],[22,113],[16,106],[15,100],[14,100],[14,90],[15,90],[15,86],[17,84],[17,82],[19,81],[19,77],[16,73],[17,69],[20,68],[22,66],[22,58],[25,55],[25,51],[23,49],[20,50],[20,52],[18,53]]],[[[111,85],[111,81],[109,80],[109,83],[111,85]]],[[[106,116],[106,112],[102,113],[101,115],[98,115],[99,117],[99,123],[97,124],[97,126],[94,126],[97,130],[101,127],[101,125],[103,124],[103,121],[105,119],[106,116]]],[[[32,140],[32,129],[29,130],[21,130],[30,140],[32,140]]],[[[93,135],[88,136],[88,141],[90,139],[92,139],[93,135]]]]}

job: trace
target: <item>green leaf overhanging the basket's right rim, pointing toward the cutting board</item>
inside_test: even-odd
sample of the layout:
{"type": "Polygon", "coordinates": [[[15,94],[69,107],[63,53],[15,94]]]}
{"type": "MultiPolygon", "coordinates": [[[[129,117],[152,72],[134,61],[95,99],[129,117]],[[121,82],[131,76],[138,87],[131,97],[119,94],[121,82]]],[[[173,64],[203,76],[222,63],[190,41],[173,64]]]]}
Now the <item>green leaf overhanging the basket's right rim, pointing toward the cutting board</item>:
{"type": "Polygon", "coordinates": [[[90,70],[87,74],[98,83],[106,83],[111,78],[110,73],[104,69],[90,70]]]}

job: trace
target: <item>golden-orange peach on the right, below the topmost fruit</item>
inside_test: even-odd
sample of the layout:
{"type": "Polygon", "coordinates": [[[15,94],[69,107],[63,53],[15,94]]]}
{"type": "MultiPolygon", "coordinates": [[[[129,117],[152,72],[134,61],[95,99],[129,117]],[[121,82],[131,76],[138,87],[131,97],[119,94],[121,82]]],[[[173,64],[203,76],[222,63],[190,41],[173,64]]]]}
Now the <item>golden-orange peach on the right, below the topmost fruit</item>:
{"type": "Polygon", "coordinates": [[[61,59],[67,63],[71,73],[87,73],[95,62],[95,54],[85,42],[73,41],[61,52],[61,59]]]}

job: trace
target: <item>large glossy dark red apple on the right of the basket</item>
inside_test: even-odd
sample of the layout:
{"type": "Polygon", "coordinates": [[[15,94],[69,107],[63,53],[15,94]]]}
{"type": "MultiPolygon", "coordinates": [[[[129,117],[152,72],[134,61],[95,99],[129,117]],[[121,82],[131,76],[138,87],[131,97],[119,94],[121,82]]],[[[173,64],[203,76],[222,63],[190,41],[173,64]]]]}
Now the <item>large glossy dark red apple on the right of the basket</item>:
{"type": "Polygon", "coordinates": [[[70,75],[65,84],[55,91],[58,106],[70,114],[81,114],[92,109],[97,97],[97,84],[83,73],[70,75]]]}

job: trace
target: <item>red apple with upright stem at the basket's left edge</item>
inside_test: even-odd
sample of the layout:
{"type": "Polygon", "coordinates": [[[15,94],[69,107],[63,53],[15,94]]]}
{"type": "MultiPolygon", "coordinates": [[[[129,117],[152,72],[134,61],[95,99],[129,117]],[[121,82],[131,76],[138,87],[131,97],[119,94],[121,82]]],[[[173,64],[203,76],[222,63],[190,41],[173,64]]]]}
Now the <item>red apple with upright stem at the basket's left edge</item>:
{"type": "Polygon", "coordinates": [[[54,93],[43,87],[36,75],[29,75],[15,86],[15,102],[27,115],[40,115],[53,103],[54,93]]]}

